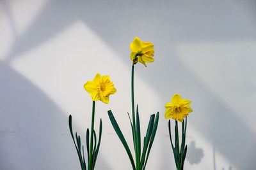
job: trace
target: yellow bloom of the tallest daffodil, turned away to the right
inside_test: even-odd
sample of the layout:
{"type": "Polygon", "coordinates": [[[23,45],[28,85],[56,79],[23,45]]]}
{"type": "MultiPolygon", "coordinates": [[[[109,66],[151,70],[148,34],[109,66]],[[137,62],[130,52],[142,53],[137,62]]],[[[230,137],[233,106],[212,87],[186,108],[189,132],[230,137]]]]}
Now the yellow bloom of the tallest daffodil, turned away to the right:
{"type": "MultiPolygon", "coordinates": [[[[131,60],[136,64],[138,61],[146,66],[146,62],[154,61],[154,45],[151,42],[141,41],[140,38],[134,38],[130,44],[131,60]],[[134,58],[135,57],[135,58],[134,58]]],[[[147,67],[147,66],[146,66],[147,67]]]]}

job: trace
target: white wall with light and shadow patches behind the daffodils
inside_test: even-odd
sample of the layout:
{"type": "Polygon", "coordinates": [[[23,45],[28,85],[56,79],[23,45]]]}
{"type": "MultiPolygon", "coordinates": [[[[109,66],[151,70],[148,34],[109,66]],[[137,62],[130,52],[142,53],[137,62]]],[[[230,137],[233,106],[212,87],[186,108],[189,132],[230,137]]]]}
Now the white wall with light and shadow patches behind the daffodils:
{"type": "Polygon", "coordinates": [[[255,169],[256,2],[0,1],[0,169],[79,169],[68,131],[85,139],[92,99],[83,84],[108,74],[118,90],[96,103],[103,120],[96,169],[131,169],[109,121],[132,148],[129,43],[152,41],[155,62],[135,67],[142,134],[160,112],[147,169],[175,169],[164,104],[193,101],[186,169],[255,169]]]}

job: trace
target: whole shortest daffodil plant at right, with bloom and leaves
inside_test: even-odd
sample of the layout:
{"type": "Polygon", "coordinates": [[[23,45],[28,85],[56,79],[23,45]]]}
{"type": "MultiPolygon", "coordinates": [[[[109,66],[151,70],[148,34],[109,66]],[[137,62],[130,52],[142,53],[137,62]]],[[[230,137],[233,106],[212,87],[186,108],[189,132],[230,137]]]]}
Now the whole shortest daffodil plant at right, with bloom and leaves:
{"type": "Polygon", "coordinates": [[[186,141],[186,129],[187,129],[187,115],[193,110],[189,107],[191,101],[182,99],[179,94],[175,94],[172,99],[172,103],[166,103],[166,111],[164,113],[165,118],[173,118],[175,120],[175,146],[173,146],[172,134],[171,134],[171,121],[168,122],[169,135],[175,159],[177,170],[184,169],[184,162],[187,154],[188,146],[185,146],[186,141]],[[183,119],[186,118],[184,123],[183,119]],[[179,143],[179,128],[178,122],[182,123],[182,139],[181,144],[179,143]]]}

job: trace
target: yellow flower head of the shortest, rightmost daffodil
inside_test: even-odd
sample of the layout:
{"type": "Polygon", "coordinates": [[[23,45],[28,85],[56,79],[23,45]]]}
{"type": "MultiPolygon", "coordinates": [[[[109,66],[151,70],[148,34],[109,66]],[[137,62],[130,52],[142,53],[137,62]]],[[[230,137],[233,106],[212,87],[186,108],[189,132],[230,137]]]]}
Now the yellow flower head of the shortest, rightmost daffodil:
{"type": "Polygon", "coordinates": [[[191,113],[193,110],[189,107],[191,101],[182,99],[179,94],[173,95],[171,99],[172,103],[166,103],[166,111],[164,113],[165,118],[173,118],[174,120],[179,120],[183,122],[188,113],[191,113]]]}

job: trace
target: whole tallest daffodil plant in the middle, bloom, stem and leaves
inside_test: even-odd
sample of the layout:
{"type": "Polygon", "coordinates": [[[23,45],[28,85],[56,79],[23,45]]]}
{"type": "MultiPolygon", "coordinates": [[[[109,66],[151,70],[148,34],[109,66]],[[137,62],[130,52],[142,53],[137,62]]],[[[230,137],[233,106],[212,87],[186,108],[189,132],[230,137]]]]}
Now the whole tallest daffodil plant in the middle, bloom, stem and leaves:
{"type": "MultiPolygon", "coordinates": [[[[150,120],[148,123],[148,128],[145,137],[143,138],[143,148],[141,148],[141,134],[140,134],[140,117],[139,117],[139,111],[138,111],[138,105],[136,108],[136,115],[135,115],[135,108],[134,108],[134,64],[136,64],[138,61],[141,62],[142,64],[145,65],[145,60],[141,58],[143,56],[141,50],[141,46],[143,48],[146,47],[145,44],[150,45],[150,50],[152,51],[152,43],[142,43],[143,41],[140,41],[140,39],[135,38],[134,39],[136,45],[131,43],[131,60],[132,60],[132,74],[131,74],[131,99],[132,99],[132,120],[129,116],[129,120],[131,123],[131,129],[132,129],[132,138],[133,138],[133,145],[134,145],[134,152],[135,152],[135,160],[134,157],[132,157],[131,150],[129,146],[127,145],[127,142],[124,138],[124,135],[122,131],[120,130],[120,127],[118,126],[116,119],[112,113],[111,110],[108,111],[109,119],[111,121],[111,124],[113,125],[113,128],[115,129],[116,134],[118,135],[118,138],[124,145],[124,148],[127,152],[127,155],[131,161],[131,166],[133,170],[145,170],[147,161],[148,161],[148,156],[150,153],[150,150],[152,148],[152,144],[154,141],[154,138],[156,136],[156,130],[157,130],[157,125],[158,125],[158,120],[159,120],[159,113],[150,115],[150,120]],[[134,53],[134,50],[137,50],[136,53],[134,53]]],[[[134,42],[133,42],[134,43],[134,42]]],[[[144,50],[144,52],[148,52],[147,50],[144,50]]],[[[153,52],[150,53],[151,55],[154,55],[154,50],[153,52]]],[[[146,55],[144,57],[147,57],[146,55]]],[[[151,61],[152,62],[152,61],[151,61]]],[[[145,65],[146,66],[146,65],[145,65]]]]}

